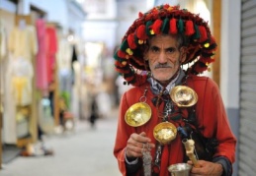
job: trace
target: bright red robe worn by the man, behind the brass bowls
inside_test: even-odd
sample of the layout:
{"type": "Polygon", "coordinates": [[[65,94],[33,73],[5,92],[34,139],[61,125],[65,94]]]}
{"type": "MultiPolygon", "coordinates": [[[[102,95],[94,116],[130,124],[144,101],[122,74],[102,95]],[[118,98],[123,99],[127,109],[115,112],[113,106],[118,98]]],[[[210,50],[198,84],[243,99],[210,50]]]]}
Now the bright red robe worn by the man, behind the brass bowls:
{"type": "MultiPolygon", "coordinates": [[[[234,162],[236,139],[231,132],[228,119],[225,113],[223,102],[217,86],[207,77],[190,76],[187,79],[187,86],[193,88],[198,93],[198,102],[196,104],[196,116],[199,128],[206,138],[215,137],[219,143],[214,156],[225,156],[231,163],[234,162]],[[204,127],[204,128],[203,128],[204,127]]],[[[118,159],[119,168],[122,174],[127,175],[125,163],[125,148],[127,147],[128,138],[132,133],[145,132],[152,143],[156,144],[153,137],[153,128],[161,122],[157,116],[157,109],[152,104],[151,99],[155,95],[150,90],[149,83],[145,83],[140,87],[129,89],[124,93],[119,112],[119,122],[117,130],[116,144],[114,154],[118,159]],[[152,115],[150,120],[140,127],[130,127],[125,121],[125,114],[128,107],[139,102],[139,98],[143,95],[144,89],[148,88],[146,93],[146,103],[151,107],[152,115]]],[[[160,107],[163,108],[163,107],[160,107]]],[[[187,110],[183,110],[183,117],[188,116],[187,110]]],[[[177,125],[177,124],[176,124],[177,125]]],[[[180,137],[167,146],[169,149],[168,156],[162,156],[161,162],[166,162],[167,166],[183,162],[183,144],[180,137]]],[[[163,153],[164,154],[164,153],[163,153]]],[[[151,155],[154,159],[155,149],[151,150],[151,155]]],[[[136,175],[142,175],[142,168],[136,175]]],[[[160,175],[169,175],[167,167],[161,168],[160,175]]]]}

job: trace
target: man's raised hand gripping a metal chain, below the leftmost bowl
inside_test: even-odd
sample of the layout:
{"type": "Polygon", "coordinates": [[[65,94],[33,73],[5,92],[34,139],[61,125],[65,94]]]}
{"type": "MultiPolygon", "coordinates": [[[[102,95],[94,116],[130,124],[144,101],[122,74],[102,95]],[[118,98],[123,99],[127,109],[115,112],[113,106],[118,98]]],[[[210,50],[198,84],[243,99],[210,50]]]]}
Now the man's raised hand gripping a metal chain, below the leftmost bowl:
{"type": "Polygon", "coordinates": [[[127,157],[133,158],[133,157],[141,157],[142,156],[142,149],[143,145],[148,144],[149,147],[155,147],[154,144],[150,144],[151,140],[146,137],[146,134],[142,132],[141,134],[131,134],[128,139],[128,145],[127,145],[127,157]]]}

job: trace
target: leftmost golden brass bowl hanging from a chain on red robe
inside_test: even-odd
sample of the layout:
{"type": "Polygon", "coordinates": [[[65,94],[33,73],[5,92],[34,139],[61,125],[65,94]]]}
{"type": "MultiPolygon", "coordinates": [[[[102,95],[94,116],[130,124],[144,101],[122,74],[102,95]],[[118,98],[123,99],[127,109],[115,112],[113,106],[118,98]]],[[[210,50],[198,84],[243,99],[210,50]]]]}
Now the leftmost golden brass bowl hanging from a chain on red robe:
{"type": "Polygon", "coordinates": [[[137,102],[126,112],[125,120],[131,127],[144,125],[151,118],[151,108],[147,103],[137,102]]]}

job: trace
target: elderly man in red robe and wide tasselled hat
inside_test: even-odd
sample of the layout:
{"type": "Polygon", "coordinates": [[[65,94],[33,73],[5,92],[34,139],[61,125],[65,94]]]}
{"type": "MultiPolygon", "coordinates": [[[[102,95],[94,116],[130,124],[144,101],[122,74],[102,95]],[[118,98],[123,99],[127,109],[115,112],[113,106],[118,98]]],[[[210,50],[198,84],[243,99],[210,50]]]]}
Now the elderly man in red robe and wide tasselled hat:
{"type": "Polygon", "coordinates": [[[167,176],[184,162],[191,175],[231,175],[236,139],[216,84],[199,76],[215,49],[208,24],[186,9],[139,13],[115,54],[116,70],[134,86],[121,99],[114,148],[123,175],[167,176]],[[191,140],[194,159],[184,147],[191,140]]]}

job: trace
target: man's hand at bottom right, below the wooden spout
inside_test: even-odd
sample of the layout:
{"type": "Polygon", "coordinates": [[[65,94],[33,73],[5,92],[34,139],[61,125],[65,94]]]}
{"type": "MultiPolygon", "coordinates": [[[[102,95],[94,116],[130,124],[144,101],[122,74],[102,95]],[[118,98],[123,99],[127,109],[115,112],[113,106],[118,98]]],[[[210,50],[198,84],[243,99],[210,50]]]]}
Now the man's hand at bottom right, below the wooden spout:
{"type": "MultiPolygon", "coordinates": [[[[191,161],[188,161],[192,165],[191,161]]],[[[200,167],[192,167],[191,176],[208,175],[208,176],[221,176],[223,167],[219,163],[209,162],[205,160],[199,160],[200,167]]]]}

